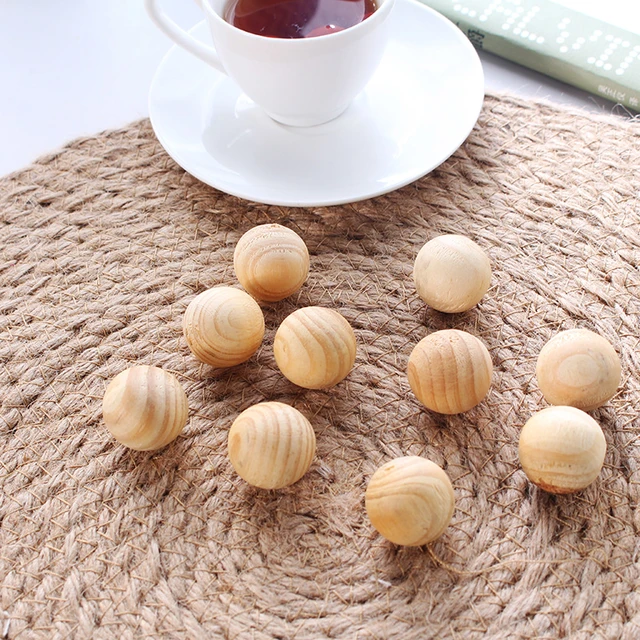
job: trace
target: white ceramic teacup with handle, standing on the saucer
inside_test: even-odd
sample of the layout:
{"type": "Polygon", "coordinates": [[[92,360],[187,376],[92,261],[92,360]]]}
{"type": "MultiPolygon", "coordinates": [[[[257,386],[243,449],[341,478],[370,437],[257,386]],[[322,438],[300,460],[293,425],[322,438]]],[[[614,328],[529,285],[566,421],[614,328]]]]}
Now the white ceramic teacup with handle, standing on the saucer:
{"type": "Polygon", "coordinates": [[[268,38],[224,20],[228,0],[198,0],[215,48],[189,35],[160,8],[147,12],[172,40],[227,74],[257,105],[282,124],[308,127],[338,117],[376,70],[387,41],[395,0],[377,0],[362,22],[314,38],[268,38]]]}

